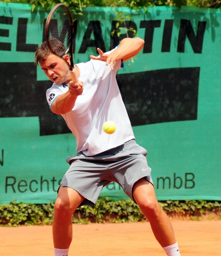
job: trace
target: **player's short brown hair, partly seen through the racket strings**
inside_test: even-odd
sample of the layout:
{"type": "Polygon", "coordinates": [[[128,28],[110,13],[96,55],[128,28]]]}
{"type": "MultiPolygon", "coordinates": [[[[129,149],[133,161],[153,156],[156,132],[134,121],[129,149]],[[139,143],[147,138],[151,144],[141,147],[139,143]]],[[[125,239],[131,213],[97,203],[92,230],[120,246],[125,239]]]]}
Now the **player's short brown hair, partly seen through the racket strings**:
{"type": "MultiPolygon", "coordinates": [[[[51,39],[51,44],[53,44],[53,47],[56,49],[54,52],[56,52],[57,55],[64,53],[66,50],[65,46],[56,38],[51,39]]],[[[51,49],[48,47],[48,43],[45,41],[41,45],[38,46],[37,50],[35,51],[35,65],[38,65],[38,63],[42,60],[46,60],[46,58],[52,54],[51,49]]]]}

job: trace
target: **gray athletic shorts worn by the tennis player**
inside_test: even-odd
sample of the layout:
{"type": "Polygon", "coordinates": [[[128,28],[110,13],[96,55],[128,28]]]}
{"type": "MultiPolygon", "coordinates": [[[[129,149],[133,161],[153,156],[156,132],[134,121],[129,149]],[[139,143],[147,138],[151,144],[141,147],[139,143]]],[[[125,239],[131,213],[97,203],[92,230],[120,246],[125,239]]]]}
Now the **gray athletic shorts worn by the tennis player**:
{"type": "Polygon", "coordinates": [[[125,144],[95,156],[85,156],[79,152],[67,157],[70,164],[61,185],[73,188],[85,200],[80,205],[94,206],[104,186],[117,182],[133,200],[133,185],[140,178],[153,184],[151,168],[147,165],[147,151],[132,139],[125,144]]]}

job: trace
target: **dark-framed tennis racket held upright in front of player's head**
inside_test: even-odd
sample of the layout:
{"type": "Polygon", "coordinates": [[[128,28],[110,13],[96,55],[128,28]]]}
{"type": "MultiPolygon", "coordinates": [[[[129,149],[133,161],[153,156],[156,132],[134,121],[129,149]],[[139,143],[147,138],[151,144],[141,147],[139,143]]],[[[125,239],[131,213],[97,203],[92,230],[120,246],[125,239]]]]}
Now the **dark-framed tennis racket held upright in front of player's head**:
{"type": "Polygon", "coordinates": [[[45,38],[51,52],[59,57],[69,53],[70,64],[68,65],[74,83],[78,82],[77,72],[73,62],[73,19],[72,15],[63,3],[58,3],[50,11],[45,24],[45,38]]]}

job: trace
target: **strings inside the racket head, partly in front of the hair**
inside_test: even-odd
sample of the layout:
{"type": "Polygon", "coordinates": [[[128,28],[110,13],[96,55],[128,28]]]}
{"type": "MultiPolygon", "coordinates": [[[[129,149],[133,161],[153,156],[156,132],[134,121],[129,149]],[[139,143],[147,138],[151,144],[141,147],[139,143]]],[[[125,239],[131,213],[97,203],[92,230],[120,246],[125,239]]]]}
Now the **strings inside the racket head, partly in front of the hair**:
{"type": "Polygon", "coordinates": [[[69,15],[62,7],[57,8],[51,16],[48,39],[50,48],[56,55],[62,56],[69,51],[72,26],[70,26],[69,15]]]}

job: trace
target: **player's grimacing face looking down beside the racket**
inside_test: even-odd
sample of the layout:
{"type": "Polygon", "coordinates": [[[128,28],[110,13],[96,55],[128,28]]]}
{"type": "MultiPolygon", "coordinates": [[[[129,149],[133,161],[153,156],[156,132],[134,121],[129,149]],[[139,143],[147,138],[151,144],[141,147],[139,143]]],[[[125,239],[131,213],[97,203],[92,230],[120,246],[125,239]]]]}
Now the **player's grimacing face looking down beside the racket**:
{"type": "Polygon", "coordinates": [[[62,84],[69,83],[69,81],[71,80],[70,70],[65,63],[65,60],[62,60],[61,57],[50,54],[48,55],[46,60],[40,61],[39,63],[46,76],[52,82],[56,84],[62,84]]]}

